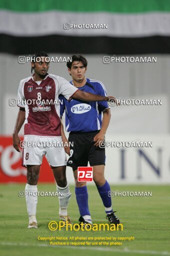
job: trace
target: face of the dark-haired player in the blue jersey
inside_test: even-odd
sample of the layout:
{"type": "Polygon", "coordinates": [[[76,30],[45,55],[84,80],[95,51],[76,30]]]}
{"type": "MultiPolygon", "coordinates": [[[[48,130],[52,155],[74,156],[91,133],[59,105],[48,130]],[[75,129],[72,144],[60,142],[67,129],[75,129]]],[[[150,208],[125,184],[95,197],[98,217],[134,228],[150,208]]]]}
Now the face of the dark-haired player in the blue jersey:
{"type": "Polygon", "coordinates": [[[71,65],[71,69],[68,68],[69,74],[72,76],[73,80],[80,81],[84,79],[86,69],[82,62],[74,61],[71,65]]]}

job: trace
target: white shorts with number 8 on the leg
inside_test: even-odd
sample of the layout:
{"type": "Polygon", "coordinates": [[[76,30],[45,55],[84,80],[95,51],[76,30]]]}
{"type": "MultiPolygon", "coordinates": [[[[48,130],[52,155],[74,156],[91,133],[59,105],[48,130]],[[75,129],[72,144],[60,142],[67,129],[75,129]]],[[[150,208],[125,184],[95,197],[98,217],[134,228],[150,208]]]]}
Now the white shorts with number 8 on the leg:
{"type": "Polygon", "coordinates": [[[66,165],[65,151],[60,146],[62,144],[61,137],[25,135],[23,144],[25,144],[25,148],[22,152],[22,165],[25,167],[41,165],[43,156],[52,167],[66,165]]]}

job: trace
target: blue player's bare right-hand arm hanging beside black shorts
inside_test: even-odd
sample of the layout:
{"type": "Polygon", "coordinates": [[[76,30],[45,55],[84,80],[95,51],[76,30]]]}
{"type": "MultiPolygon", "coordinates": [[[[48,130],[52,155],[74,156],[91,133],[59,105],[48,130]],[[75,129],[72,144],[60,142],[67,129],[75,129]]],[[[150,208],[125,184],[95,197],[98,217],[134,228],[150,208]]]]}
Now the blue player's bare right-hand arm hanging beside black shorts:
{"type": "Polygon", "coordinates": [[[104,141],[104,136],[107,131],[108,124],[110,122],[110,108],[106,108],[103,112],[103,117],[102,117],[102,123],[101,123],[101,129],[98,134],[94,137],[94,146],[98,147],[100,141],[104,141]]]}

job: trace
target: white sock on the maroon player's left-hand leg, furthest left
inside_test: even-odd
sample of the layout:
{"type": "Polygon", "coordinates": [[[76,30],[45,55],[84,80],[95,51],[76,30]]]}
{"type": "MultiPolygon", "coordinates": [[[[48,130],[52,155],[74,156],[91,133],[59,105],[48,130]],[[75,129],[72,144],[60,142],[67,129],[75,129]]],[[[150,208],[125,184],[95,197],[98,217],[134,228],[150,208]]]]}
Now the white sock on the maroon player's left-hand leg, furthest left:
{"type": "Polygon", "coordinates": [[[36,205],[38,201],[37,197],[37,186],[26,184],[25,186],[25,200],[29,223],[36,221],[36,205]],[[35,193],[33,193],[35,192],[35,193]]]}

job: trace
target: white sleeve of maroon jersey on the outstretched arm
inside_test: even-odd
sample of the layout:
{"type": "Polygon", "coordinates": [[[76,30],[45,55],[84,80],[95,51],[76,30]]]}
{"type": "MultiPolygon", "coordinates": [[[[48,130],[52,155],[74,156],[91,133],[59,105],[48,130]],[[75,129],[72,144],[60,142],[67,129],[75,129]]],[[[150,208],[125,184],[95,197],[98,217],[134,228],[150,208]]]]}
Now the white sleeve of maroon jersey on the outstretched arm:
{"type": "Polygon", "coordinates": [[[59,77],[58,82],[59,94],[62,94],[69,101],[78,89],[62,77],[59,77]]]}

